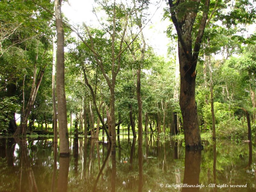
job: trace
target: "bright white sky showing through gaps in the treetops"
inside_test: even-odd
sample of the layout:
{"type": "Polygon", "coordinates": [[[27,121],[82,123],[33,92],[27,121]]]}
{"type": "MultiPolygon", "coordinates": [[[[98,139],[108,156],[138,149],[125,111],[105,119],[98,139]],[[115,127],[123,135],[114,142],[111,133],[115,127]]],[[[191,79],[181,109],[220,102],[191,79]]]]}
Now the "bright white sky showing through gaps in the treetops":
{"type": "MultiPolygon", "coordinates": [[[[85,22],[87,26],[100,28],[97,17],[92,13],[93,6],[96,7],[94,0],[70,0],[69,4],[67,2],[64,3],[61,9],[65,17],[67,17],[74,26],[85,22]]],[[[171,41],[167,38],[164,31],[171,22],[169,20],[162,20],[164,13],[163,8],[167,6],[166,2],[162,1],[159,6],[157,10],[157,6],[155,5],[149,7],[148,12],[152,14],[154,12],[156,13],[147,26],[143,28],[143,34],[146,38],[146,44],[152,46],[156,54],[167,58],[167,49],[171,41]]],[[[98,17],[100,17],[100,14],[98,17]]]]}

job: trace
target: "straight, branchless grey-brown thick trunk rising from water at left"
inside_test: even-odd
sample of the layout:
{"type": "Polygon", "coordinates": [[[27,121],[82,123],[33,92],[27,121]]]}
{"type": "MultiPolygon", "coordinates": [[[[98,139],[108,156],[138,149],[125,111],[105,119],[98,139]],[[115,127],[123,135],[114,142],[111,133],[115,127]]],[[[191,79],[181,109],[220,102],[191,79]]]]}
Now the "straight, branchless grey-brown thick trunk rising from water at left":
{"type": "Polygon", "coordinates": [[[61,16],[61,2],[62,0],[55,0],[55,18],[57,29],[56,92],[58,100],[60,155],[69,155],[67,106],[64,82],[64,29],[61,16]]]}

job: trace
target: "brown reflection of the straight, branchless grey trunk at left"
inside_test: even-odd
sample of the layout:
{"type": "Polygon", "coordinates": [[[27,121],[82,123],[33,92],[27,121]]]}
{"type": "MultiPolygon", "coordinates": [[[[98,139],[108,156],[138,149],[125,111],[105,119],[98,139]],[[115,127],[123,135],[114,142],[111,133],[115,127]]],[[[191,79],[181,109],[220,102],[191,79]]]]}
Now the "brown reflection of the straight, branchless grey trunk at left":
{"type": "Polygon", "coordinates": [[[58,192],[68,191],[68,168],[69,168],[69,157],[60,157],[59,159],[60,170],[58,177],[58,192]]]}

